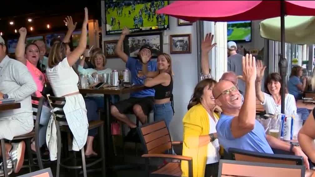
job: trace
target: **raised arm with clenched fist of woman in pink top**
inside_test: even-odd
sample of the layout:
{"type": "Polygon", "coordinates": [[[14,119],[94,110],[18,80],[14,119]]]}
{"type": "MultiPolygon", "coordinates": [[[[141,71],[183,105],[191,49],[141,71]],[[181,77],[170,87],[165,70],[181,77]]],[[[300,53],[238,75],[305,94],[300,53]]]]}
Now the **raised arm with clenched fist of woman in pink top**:
{"type": "Polygon", "coordinates": [[[19,29],[20,37],[18,44],[15,48],[15,58],[26,65],[26,58],[24,57],[25,54],[25,39],[26,39],[26,28],[22,27],[19,29]]]}

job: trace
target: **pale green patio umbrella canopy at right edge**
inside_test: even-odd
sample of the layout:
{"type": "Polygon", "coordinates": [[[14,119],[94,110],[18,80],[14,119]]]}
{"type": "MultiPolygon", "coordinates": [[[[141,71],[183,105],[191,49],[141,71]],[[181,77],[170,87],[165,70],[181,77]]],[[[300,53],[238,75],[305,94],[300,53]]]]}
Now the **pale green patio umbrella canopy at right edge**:
{"type": "MultiPolygon", "coordinates": [[[[315,16],[288,15],[284,19],[285,42],[294,44],[315,43],[315,16]]],[[[274,41],[281,41],[280,17],[261,21],[260,36],[274,41]]]]}

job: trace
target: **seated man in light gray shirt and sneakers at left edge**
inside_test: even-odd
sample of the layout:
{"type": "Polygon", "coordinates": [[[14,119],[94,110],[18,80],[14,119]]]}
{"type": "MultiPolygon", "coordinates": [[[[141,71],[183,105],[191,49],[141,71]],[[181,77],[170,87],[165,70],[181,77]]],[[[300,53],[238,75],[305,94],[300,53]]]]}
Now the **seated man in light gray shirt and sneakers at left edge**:
{"type": "MultiPolygon", "coordinates": [[[[31,94],[37,86],[26,66],[6,55],[7,47],[0,36],[0,99],[12,98],[21,108],[0,112],[0,139],[12,140],[14,136],[29,133],[34,128],[31,94]]],[[[25,143],[6,143],[8,173],[19,172],[24,161],[25,143]]],[[[0,176],[3,176],[3,168],[0,176]]]]}

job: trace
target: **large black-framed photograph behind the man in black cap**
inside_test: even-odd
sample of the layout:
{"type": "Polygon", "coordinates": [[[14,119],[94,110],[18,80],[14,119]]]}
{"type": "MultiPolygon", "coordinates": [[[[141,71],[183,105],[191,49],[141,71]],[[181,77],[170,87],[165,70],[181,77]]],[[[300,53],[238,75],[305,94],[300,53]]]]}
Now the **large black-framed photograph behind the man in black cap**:
{"type": "Polygon", "coordinates": [[[143,45],[151,46],[152,58],[157,58],[163,52],[162,33],[129,35],[124,41],[124,52],[130,57],[138,58],[139,49],[143,45]]]}

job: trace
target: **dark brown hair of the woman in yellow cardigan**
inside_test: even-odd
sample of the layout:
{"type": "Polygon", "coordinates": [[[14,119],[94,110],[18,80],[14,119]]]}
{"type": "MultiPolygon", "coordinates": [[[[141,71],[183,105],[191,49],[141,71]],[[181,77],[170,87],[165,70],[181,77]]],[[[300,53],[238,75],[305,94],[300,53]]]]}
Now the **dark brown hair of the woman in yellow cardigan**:
{"type": "Polygon", "coordinates": [[[200,81],[194,89],[194,93],[192,94],[192,98],[189,101],[187,109],[189,110],[193,106],[200,103],[200,98],[203,95],[204,87],[209,86],[209,88],[212,88],[215,86],[216,83],[217,83],[217,81],[215,81],[213,79],[204,79],[204,80],[200,81]]]}

